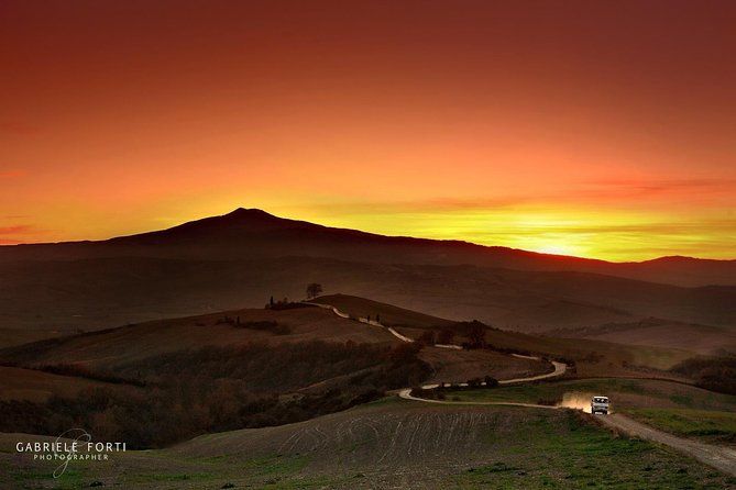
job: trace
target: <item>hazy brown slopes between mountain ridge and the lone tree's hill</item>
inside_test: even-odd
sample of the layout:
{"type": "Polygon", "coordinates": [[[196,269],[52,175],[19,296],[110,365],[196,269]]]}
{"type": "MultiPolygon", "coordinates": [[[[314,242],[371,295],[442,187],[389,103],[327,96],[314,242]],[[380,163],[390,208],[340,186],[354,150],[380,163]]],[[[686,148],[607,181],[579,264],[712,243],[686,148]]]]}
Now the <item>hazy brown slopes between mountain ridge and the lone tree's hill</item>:
{"type": "MultiPolygon", "coordinates": [[[[307,283],[449,320],[546,331],[649,316],[736,325],[735,287],[681,288],[583,272],[326,258],[195,260],[118,257],[0,266],[0,321],[50,336],[304,298],[307,283]]],[[[22,334],[28,336],[28,334],[22,334]]],[[[12,341],[12,333],[2,338],[12,341]]]]}

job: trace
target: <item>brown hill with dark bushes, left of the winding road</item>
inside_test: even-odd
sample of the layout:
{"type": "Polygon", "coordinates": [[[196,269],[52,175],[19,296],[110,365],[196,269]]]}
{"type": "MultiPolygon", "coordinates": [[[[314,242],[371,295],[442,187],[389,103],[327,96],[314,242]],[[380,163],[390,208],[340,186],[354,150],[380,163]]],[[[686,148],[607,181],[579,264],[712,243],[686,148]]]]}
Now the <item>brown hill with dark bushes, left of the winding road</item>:
{"type": "Polygon", "coordinates": [[[507,353],[405,343],[382,326],[299,303],[44,339],[0,349],[0,365],[25,380],[25,389],[0,383],[0,432],[54,434],[81,424],[136,448],[299,422],[436,379],[549,369],[507,353]]]}

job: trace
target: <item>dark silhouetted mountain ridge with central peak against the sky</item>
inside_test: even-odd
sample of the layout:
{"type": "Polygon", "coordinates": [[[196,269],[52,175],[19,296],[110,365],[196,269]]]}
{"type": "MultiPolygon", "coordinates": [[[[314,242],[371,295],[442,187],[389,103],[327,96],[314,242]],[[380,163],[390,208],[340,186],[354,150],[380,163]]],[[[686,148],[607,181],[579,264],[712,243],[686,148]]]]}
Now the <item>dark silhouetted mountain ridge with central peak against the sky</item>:
{"type": "Polygon", "coordinates": [[[611,263],[459,241],[384,236],[287,220],[262,210],[242,208],[168,230],[107,241],[0,246],[0,263],[119,256],[206,260],[326,257],[378,264],[594,272],[685,287],[736,286],[736,260],[662,257],[640,263],[611,263]]]}

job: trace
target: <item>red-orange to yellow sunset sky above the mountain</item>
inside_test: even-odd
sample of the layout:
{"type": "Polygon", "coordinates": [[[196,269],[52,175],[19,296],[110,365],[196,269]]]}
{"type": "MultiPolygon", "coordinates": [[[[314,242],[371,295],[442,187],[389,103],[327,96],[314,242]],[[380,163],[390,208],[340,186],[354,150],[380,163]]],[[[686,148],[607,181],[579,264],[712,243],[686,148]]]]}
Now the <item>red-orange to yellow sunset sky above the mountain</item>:
{"type": "Polygon", "coordinates": [[[0,0],[0,244],[238,207],[736,258],[736,2],[0,0]]]}

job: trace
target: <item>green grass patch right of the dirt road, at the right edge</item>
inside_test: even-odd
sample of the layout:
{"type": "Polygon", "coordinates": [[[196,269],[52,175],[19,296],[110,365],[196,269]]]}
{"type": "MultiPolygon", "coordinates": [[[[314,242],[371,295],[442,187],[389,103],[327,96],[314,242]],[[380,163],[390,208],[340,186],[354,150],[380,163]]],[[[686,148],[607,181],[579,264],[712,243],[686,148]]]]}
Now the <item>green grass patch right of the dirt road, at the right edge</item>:
{"type": "Polygon", "coordinates": [[[736,444],[736,412],[691,409],[634,409],[641,422],[673,434],[736,444]]]}

